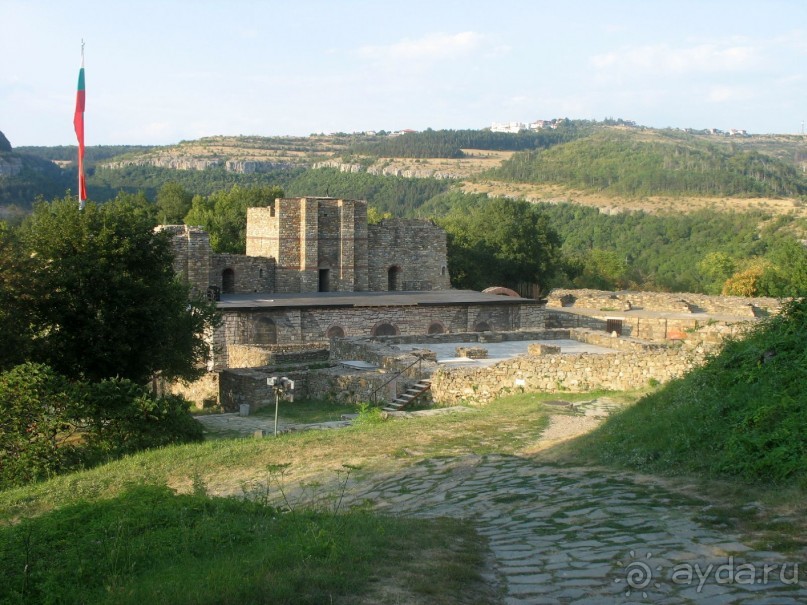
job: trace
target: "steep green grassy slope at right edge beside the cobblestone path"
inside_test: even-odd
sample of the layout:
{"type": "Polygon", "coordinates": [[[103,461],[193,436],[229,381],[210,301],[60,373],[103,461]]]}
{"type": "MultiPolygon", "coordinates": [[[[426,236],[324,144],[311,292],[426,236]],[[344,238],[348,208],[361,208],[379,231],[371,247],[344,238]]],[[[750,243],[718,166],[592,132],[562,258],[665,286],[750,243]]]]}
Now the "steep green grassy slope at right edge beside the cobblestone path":
{"type": "Polygon", "coordinates": [[[583,438],[589,462],[807,487],[807,302],[583,438]]]}

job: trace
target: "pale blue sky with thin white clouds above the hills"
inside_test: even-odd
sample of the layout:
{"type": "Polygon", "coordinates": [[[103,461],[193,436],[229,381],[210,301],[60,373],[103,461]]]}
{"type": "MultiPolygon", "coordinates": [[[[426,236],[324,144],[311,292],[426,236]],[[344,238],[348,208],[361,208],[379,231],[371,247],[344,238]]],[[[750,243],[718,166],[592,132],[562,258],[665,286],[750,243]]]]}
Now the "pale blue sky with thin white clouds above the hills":
{"type": "Polygon", "coordinates": [[[0,0],[0,131],[72,145],[568,117],[802,132],[807,0],[0,0]]]}

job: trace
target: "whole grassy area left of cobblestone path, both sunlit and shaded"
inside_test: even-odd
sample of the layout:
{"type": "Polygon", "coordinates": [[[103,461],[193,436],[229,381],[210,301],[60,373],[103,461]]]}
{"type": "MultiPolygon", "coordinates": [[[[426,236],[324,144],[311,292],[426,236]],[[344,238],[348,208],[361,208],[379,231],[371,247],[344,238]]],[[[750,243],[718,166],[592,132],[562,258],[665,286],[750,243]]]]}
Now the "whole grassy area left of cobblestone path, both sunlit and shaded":
{"type": "Polygon", "coordinates": [[[441,456],[516,453],[540,439],[545,399],[166,447],[0,492],[0,602],[493,602],[481,580],[485,542],[471,525],[335,514],[321,499],[283,512],[266,469],[284,468],[284,481],[319,497],[338,492],[328,477],[344,463],[361,465],[361,477],[441,456]]]}

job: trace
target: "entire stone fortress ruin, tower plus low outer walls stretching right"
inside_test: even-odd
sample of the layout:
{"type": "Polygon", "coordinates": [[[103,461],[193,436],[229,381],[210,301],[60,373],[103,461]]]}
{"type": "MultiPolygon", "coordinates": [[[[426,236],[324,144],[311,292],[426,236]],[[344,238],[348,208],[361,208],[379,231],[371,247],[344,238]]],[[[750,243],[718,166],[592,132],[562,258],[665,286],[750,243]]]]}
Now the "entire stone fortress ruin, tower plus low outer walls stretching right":
{"type": "Polygon", "coordinates": [[[266,379],[278,371],[303,398],[382,404],[405,400],[413,385],[438,403],[635,388],[680,376],[780,306],[694,294],[555,290],[538,301],[504,288],[453,290],[442,229],[368,224],[357,200],[250,208],[245,255],[214,253],[200,228],[161,229],[173,233],[177,273],[223,315],[208,378],[179,392],[230,410],[268,405],[266,379]]]}

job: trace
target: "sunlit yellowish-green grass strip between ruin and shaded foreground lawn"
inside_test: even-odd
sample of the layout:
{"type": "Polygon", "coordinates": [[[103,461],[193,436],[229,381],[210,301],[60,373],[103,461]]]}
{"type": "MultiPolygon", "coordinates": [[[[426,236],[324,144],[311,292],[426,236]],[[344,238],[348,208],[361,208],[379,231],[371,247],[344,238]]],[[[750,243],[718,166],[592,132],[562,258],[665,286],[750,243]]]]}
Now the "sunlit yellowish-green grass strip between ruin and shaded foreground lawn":
{"type": "MultiPolygon", "coordinates": [[[[566,398],[585,395],[567,394],[566,398]]],[[[114,497],[132,483],[164,484],[180,492],[198,477],[219,495],[237,495],[264,469],[289,465],[287,479],[332,477],[344,464],[385,469],[438,456],[516,454],[538,442],[549,420],[543,402],[557,395],[522,394],[463,413],[381,420],[331,431],[265,439],[216,439],[127,456],[87,471],[0,492],[0,521],[32,516],[80,500],[114,497]]],[[[551,410],[554,411],[554,410],[551,410]]]]}

